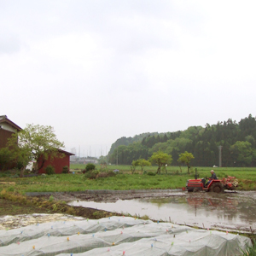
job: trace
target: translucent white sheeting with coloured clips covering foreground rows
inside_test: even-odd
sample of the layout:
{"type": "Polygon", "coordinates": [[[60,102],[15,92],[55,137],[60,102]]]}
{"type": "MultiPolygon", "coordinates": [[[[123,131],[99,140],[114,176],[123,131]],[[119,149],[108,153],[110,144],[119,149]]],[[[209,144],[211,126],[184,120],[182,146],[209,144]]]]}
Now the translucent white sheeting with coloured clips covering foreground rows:
{"type": "Polygon", "coordinates": [[[1,256],[241,255],[244,236],[130,217],[55,222],[0,231],[1,256]]]}

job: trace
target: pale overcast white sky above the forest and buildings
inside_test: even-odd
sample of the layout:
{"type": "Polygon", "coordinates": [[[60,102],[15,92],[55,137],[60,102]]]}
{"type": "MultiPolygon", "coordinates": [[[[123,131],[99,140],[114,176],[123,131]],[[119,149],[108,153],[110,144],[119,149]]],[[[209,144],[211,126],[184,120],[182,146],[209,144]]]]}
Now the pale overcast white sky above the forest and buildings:
{"type": "Polygon", "coordinates": [[[0,115],[53,126],[80,156],[105,155],[119,137],[255,117],[255,10],[254,0],[0,0],[0,115]]]}

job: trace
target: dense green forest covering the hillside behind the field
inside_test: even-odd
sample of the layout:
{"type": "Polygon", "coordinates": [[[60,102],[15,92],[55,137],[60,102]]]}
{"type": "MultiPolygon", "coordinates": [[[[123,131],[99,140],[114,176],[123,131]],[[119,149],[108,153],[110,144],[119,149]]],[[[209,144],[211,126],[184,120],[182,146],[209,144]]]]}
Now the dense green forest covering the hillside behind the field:
{"type": "Polygon", "coordinates": [[[172,166],[178,166],[179,154],[195,156],[192,166],[218,166],[219,146],[222,166],[256,166],[256,120],[250,114],[239,123],[228,119],[217,125],[191,126],[185,131],[143,133],[121,137],[108,153],[110,163],[131,165],[132,160],[148,159],[159,150],[172,154],[172,166]]]}

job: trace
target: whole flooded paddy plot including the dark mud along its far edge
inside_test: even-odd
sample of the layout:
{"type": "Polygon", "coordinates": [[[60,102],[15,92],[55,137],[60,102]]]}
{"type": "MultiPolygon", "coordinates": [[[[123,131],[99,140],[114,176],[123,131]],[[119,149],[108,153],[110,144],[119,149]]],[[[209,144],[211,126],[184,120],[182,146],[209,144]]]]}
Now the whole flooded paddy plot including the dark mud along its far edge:
{"type": "MultiPolygon", "coordinates": [[[[148,216],[154,220],[204,229],[256,233],[255,191],[226,191],[224,194],[215,194],[188,193],[182,189],[87,190],[28,195],[44,199],[49,199],[52,195],[55,201],[66,201],[70,206],[84,208],[84,212],[87,209],[103,210],[113,214],[148,216]]],[[[82,214],[80,216],[85,217],[82,214]]]]}

